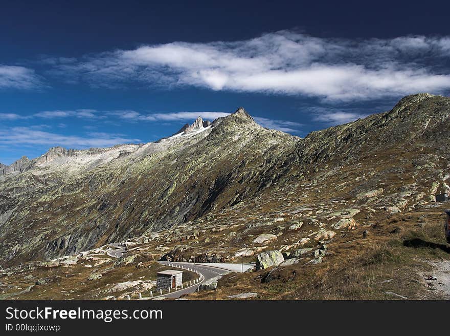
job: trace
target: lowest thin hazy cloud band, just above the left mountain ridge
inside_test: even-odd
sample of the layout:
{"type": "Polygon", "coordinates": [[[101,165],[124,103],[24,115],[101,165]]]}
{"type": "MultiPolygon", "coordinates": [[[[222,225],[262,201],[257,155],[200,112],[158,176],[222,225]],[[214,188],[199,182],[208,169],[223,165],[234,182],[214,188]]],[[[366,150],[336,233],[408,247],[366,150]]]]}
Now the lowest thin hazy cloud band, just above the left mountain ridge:
{"type": "Polygon", "coordinates": [[[87,136],[62,135],[35,130],[30,127],[0,129],[0,145],[47,145],[69,148],[108,147],[118,143],[140,142],[139,139],[126,138],[121,134],[90,133],[87,136]]]}

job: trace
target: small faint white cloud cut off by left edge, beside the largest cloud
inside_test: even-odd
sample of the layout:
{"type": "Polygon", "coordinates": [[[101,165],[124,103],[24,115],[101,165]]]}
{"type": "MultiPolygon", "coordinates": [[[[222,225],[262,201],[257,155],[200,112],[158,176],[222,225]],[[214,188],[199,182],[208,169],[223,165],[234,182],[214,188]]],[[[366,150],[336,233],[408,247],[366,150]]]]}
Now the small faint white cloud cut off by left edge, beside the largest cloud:
{"type": "Polygon", "coordinates": [[[36,89],[42,85],[34,70],[0,65],[0,89],[36,89]]]}

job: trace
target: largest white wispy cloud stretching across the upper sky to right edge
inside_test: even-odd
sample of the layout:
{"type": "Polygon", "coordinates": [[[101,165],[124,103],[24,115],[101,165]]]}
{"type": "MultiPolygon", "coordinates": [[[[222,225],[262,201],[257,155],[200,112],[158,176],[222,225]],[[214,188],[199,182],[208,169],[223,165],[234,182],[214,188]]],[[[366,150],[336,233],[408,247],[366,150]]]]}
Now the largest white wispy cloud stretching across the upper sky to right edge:
{"type": "Polygon", "coordinates": [[[211,90],[364,100],[450,89],[450,37],[317,38],[291,31],[243,41],[173,42],[58,62],[92,85],[141,82],[211,90]]]}

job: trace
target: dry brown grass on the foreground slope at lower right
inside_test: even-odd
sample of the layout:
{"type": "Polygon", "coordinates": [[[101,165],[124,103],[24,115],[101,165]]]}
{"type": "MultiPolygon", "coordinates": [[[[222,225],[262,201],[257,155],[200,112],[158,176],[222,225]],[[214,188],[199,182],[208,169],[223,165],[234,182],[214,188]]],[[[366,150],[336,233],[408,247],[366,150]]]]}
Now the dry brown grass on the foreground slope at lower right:
{"type": "Polygon", "coordinates": [[[274,270],[278,278],[261,283],[268,270],[223,277],[216,291],[192,299],[226,299],[257,291],[259,299],[391,300],[394,292],[408,299],[440,299],[424,286],[420,274],[429,260],[449,260],[440,208],[396,214],[371,227],[361,227],[330,243],[331,255],[318,265],[291,265],[274,270]],[[420,225],[418,225],[421,223],[420,225]],[[362,238],[362,230],[369,237],[362,238]]]}

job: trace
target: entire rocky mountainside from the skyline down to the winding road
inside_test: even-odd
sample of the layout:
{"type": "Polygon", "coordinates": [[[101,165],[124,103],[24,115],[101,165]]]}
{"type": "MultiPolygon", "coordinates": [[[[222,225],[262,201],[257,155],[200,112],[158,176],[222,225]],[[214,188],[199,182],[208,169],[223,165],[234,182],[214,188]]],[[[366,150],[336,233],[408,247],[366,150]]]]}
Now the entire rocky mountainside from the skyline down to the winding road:
{"type": "Polygon", "coordinates": [[[52,149],[0,177],[2,263],[140,236],[178,260],[312,248],[447,188],[449,116],[449,98],[419,94],[304,139],[239,109],[156,143],[52,149]]]}

